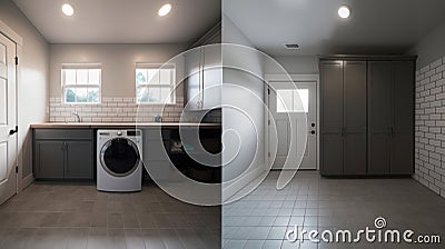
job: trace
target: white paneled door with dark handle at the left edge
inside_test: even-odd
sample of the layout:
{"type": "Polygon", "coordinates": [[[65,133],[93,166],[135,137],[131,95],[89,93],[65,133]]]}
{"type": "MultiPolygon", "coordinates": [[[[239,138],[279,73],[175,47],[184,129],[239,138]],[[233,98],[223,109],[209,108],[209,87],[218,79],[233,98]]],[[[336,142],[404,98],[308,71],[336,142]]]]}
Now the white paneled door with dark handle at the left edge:
{"type": "Polygon", "coordinates": [[[16,44],[0,33],[0,203],[17,192],[16,44]]]}

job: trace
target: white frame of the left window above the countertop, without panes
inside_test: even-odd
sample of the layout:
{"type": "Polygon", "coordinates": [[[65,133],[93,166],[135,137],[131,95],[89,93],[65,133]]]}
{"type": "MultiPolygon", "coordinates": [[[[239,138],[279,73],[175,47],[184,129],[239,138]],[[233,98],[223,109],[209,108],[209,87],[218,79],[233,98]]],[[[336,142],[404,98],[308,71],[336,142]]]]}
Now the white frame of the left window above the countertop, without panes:
{"type": "MultiPolygon", "coordinates": [[[[101,63],[62,63],[60,69],[60,82],[62,89],[62,104],[101,104],[102,102],[102,64],[101,63]],[[67,84],[65,70],[90,70],[90,69],[99,69],[99,83],[98,84],[78,84],[76,79],[76,84],[67,84]],[[99,101],[98,102],[67,102],[67,89],[68,88],[98,88],[99,89],[99,101]]],[[[88,100],[88,97],[87,97],[88,100]]]]}

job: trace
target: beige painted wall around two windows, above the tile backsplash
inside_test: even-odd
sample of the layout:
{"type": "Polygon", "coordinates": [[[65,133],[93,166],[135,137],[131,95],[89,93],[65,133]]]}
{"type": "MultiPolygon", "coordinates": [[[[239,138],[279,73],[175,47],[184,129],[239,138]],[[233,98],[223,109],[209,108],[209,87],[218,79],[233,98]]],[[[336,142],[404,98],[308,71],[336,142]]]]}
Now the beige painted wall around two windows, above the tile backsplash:
{"type": "MultiPolygon", "coordinates": [[[[134,98],[136,62],[164,63],[185,51],[187,47],[187,44],[51,44],[50,96],[53,98],[62,96],[60,82],[62,63],[88,62],[102,64],[102,98],[134,98]]],[[[177,70],[178,76],[184,71],[179,66],[177,70]]]]}

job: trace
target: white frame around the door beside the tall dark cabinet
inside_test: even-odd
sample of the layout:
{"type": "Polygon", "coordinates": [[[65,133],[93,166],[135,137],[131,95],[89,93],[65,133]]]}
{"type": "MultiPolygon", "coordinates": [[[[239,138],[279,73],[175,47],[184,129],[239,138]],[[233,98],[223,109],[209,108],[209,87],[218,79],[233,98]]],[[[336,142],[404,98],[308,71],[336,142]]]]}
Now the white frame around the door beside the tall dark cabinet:
{"type": "MultiPolygon", "coordinates": [[[[269,97],[268,97],[268,89],[269,89],[269,83],[268,82],[288,82],[289,78],[293,82],[307,82],[307,83],[315,83],[315,92],[316,92],[316,118],[317,118],[317,126],[316,126],[316,165],[317,165],[317,170],[319,170],[319,74],[265,74],[265,80],[267,82],[267,86],[265,87],[265,92],[264,92],[264,99],[265,99],[265,106],[269,107],[269,97]]],[[[267,111],[267,110],[266,110],[267,111]]],[[[265,165],[268,167],[270,165],[269,161],[269,114],[265,113],[265,165]]]]}

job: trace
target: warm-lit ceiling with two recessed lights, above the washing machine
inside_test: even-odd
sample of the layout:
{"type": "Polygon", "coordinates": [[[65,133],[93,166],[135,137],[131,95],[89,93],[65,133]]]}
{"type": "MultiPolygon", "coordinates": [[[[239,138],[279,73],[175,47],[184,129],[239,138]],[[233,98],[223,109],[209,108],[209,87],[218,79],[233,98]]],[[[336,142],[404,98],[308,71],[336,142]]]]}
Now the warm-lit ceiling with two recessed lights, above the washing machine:
{"type": "Polygon", "coordinates": [[[220,0],[13,0],[50,43],[189,43],[221,17],[220,0]],[[171,3],[167,17],[159,8],[171,3]],[[75,16],[61,6],[70,3],[75,16]]]}

